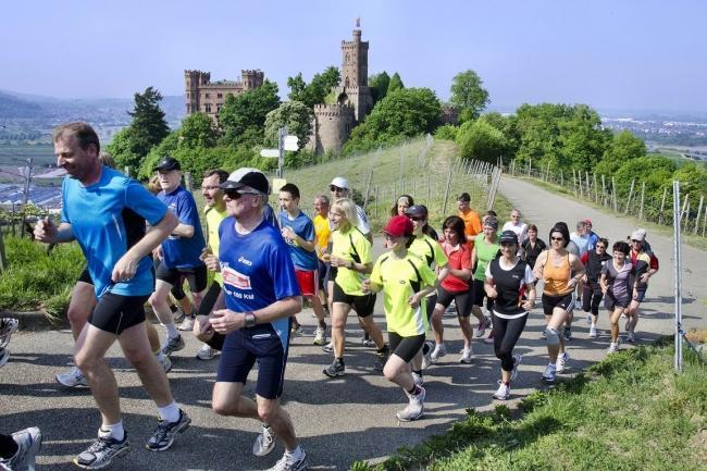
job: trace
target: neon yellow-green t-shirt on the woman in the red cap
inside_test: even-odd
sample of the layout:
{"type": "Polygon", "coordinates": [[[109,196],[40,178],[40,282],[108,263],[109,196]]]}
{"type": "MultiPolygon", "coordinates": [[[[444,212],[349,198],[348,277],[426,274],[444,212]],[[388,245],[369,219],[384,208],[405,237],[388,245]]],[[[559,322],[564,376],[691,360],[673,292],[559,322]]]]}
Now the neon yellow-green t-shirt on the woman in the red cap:
{"type": "Polygon", "coordinates": [[[383,311],[389,332],[413,337],[427,331],[426,302],[423,299],[413,309],[408,299],[423,288],[434,286],[436,278],[424,260],[410,251],[399,260],[394,259],[390,252],[379,257],[371,282],[383,286],[383,311]]]}

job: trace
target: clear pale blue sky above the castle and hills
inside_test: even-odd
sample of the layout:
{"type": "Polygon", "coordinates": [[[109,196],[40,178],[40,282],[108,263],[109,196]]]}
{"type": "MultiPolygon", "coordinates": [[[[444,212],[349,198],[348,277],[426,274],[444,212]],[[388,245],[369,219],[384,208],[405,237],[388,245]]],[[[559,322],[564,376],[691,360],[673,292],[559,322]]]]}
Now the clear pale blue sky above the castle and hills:
{"type": "Polygon", "coordinates": [[[475,71],[494,108],[587,103],[707,112],[707,2],[656,0],[0,0],[0,89],[60,98],[184,94],[184,70],[239,79],[340,66],[357,17],[369,72],[447,100],[475,71]]]}

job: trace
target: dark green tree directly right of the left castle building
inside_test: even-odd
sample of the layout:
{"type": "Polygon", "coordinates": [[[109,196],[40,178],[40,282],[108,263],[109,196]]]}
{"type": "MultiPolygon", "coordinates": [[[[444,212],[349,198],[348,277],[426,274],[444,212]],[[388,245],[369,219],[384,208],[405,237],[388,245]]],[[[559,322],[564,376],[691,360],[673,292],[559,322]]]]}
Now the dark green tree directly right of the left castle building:
{"type": "Polygon", "coordinates": [[[277,84],[270,80],[236,97],[230,95],[219,112],[221,142],[233,147],[261,144],[265,116],[278,106],[277,84]]]}

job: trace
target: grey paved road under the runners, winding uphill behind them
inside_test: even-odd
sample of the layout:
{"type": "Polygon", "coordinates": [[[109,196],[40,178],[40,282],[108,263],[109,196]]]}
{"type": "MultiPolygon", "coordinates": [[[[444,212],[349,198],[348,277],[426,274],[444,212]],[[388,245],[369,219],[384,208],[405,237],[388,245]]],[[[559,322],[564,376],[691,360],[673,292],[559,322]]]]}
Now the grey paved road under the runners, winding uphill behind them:
{"type": "MultiPolygon", "coordinates": [[[[517,204],[526,216],[538,224],[541,233],[556,220],[568,222],[592,218],[600,234],[612,239],[624,237],[630,224],[588,209],[573,201],[530,186],[523,182],[504,179],[501,193],[517,204]]],[[[640,324],[642,342],[670,332],[671,276],[669,241],[649,234],[650,243],[661,257],[662,272],[656,276],[648,292],[647,320],[640,324]]],[[[376,240],[380,249],[380,240],[376,240]]],[[[704,252],[685,250],[689,284],[686,305],[689,323],[704,307],[704,287],[697,281],[706,278],[704,252]],[[702,263],[702,265],[700,265],[702,263]],[[698,295],[699,294],[699,295],[698,295]],[[699,305],[699,307],[698,307],[699,305]]],[[[704,282],[703,282],[704,283],[704,282]]],[[[376,310],[381,322],[381,308],[376,310]]],[[[704,314],[703,314],[704,315],[704,314]]],[[[513,385],[514,400],[537,387],[544,387],[539,374],[546,363],[539,311],[531,321],[517,351],[524,355],[519,381],[513,385]]],[[[395,386],[372,370],[373,352],[356,343],[349,344],[347,376],[325,380],[322,368],[331,357],[311,346],[313,319],[309,312],[300,314],[309,325],[310,335],[294,340],[285,386],[285,408],[294,418],[302,445],[310,456],[312,469],[345,470],[357,459],[381,459],[400,446],[413,445],[426,436],[444,432],[451,422],[464,417],[466,408],[493,407],[499,364],[492,347],[474,342],[475,361],[471,365],[457,363],[456,351],[461,348],[455,318],[445,318],[449,350],[425,375],[427,413],[423,420],[399,424],[395,412],[404,406],[405,397],[395,386]]],[[[704,317],[702,318],[704,325],[704,317]]],[[[600,321],[597,339],[587,338],[584,321],[576,323],[575,339],[570,344],[571,372],[580,371],[601,358],[608,346],[606,319],[600,321]]],[[[360,338],[356,322],[349,322],[352,340],[360,338]]],[[[70,470],[70,460],[89,443],[99,425],[99,416],[87,391],[66,391],[53,383],[53,375],[71,361],[69,332],[17,333],[12,340],[12,358],[0,370],[0,430],[10,431],[38,425],[45,434],[45,445],[38,469],[70,470]]],[[[193,426],[177,439],[172,449],[152,454],[142,448],[156,425],[157,411],[141,389],[136,374],[122,359],[117,349],[110,351],[121,387],[124,423],[129,433],[133,451],[117,461],[114,470],[253,470],[274,464],[282,446],[266,458],[250,454],[258,424],[251,420],[215,416],[210,409],[215,361],[194,359],[197,343],[189,338],[187,348],[174,356],[170,380],[175,396],[194,419],[193,426]]],[[[250,385],[247,386],[248,388],[250,385]]]]}

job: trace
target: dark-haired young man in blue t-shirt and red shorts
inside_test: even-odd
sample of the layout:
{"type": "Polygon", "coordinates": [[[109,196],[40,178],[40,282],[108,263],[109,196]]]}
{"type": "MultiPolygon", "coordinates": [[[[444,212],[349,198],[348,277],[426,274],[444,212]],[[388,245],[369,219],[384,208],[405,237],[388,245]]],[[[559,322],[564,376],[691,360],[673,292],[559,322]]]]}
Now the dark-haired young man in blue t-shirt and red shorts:
{"type": "MultiPolygon", "coordinates": [[[[302,296],[312,305],[319,326],[314,333],[314,345],[326,343],[326,322],[324,308],[319,299],[319,259],[314,251],[314,223],[299,209],[299,188],[287,183],[280,188],[280,232],[289,246],[295,274],[302,296]]],[[[301,326],[293,315],[293,334],[299,335],[301,326]]]]}

